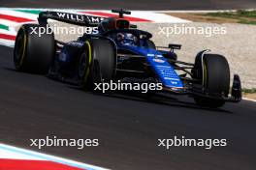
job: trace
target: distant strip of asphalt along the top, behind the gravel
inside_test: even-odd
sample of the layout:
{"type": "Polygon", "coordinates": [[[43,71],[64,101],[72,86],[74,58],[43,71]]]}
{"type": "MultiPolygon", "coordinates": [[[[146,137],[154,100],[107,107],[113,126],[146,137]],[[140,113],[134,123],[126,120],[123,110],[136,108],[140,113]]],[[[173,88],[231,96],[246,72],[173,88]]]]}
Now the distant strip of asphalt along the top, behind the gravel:
{"type": "Polygon", "coordinates": [[[127,10],[230,10],[255,9],[255,0],[0,0],[2,7],[127,10]]]}

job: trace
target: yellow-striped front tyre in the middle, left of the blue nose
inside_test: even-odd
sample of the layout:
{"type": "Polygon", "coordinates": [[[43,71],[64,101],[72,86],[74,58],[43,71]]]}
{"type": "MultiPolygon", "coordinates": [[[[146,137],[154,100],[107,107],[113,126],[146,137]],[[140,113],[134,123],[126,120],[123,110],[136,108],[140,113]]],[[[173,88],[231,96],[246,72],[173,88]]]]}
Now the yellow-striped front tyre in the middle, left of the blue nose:
{"type": "Polygon", "coordinates": [[[112,42],[101,39],[85,42],[78,68],[80,87],[93,90],[94,83],[110,81],[114,75],[115,63],[115,50],[112,42]]]}

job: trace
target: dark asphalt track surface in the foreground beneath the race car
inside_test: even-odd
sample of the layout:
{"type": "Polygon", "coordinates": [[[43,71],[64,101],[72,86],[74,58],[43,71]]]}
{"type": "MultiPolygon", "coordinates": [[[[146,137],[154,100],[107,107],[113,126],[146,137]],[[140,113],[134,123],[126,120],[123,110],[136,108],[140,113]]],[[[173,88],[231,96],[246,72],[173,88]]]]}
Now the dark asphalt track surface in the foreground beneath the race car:
{"type": "MultiPolygon", "coordinates": [[[[177,97],[176,97],[177,98],[177,97]]],[[[55,156],[118,170],[255,170],[256,103],[221,109],[191,99],[101,96],[43,75],[17,72],[13,50],[0,46],[0,139],[55,156]],[[29,139],[98,138],[99,147],[30,147],[29,139]],[[226,138],[227,147],[157,147],[157,139],[226,138]]]]}

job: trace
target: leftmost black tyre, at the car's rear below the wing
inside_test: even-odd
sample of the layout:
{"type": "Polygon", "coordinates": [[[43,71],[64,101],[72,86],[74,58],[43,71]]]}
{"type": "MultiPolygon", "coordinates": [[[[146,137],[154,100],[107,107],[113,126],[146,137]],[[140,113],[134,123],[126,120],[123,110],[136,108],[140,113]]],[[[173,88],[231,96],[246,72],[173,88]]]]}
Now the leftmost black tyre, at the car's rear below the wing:
{"type": "Polygon", "coordinates": [[[55,53],[55,42],[53,33],[39,35],[42,27],[38,24],[24,24],[18,30],[14,50],[17,71],[48,72],[55,53]]]}

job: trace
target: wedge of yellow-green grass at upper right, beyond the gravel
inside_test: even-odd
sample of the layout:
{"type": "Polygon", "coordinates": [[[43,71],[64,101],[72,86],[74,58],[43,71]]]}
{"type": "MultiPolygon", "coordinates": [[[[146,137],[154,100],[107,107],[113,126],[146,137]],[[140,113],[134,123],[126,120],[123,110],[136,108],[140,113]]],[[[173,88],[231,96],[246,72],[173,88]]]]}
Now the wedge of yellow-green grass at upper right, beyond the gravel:
{"type": "Polygon", "coordinates": [[[238,23],[256,25],[256,10],[254,11],[239,10],[237,12],[219,12],[219,13],[208,13],[208,14],[202,14],[202,15],[236,19],[238,23]]]}

